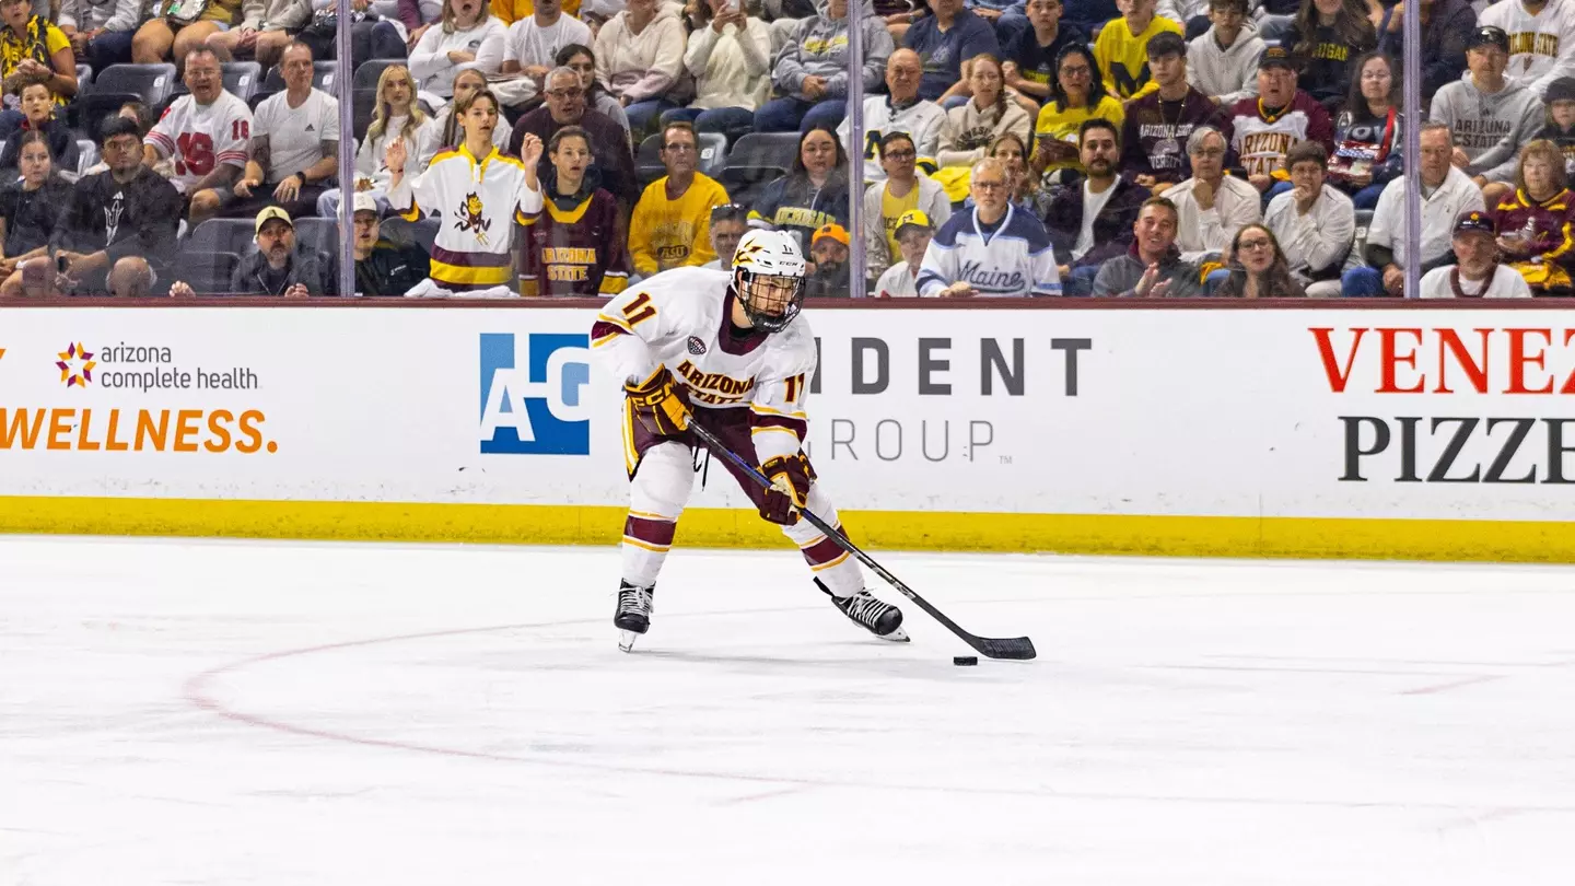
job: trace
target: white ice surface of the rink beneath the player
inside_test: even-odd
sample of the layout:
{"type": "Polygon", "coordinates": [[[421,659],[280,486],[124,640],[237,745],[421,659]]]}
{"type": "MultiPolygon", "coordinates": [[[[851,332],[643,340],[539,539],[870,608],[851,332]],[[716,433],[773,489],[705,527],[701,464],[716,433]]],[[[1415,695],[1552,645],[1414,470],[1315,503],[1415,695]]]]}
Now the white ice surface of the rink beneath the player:
{"type": "Polygon", "coordinates": [[[888,560],[0,539],[0,884],[1575,881],[1572,569],[888,560]]]}

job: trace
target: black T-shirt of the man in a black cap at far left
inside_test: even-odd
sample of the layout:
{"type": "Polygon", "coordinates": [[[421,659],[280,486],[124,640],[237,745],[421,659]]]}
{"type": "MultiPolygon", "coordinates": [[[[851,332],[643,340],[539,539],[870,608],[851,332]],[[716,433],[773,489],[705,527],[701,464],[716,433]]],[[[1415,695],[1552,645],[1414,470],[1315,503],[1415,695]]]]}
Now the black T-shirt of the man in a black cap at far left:
{"type": "Polygon", "coordinates": [[[83,254],[102,249],[110,265],[142,255],[158,268],[175,255],[183,208],[180,191],[145,166],[126,184],[112,172],[87,175],[71,189],[54,246],[83,254]]]}

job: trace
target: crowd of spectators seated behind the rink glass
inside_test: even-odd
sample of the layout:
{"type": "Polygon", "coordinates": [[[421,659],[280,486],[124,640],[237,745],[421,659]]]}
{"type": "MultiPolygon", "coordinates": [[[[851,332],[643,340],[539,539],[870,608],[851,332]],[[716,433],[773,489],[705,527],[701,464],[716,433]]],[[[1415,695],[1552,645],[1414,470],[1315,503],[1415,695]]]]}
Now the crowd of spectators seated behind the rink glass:
{"type": "Polygon", "coordinates": [[[343,200],[356,295],[616,293],[751,225],[832,298],[1575,295],[1564,0],[1422,0],[1416,47],[1388,0],[351,8],[342,132],[332,0],[0,0],[0,296],[339,295],[343,200]],[[180,88],[94,102],[128,63],[180,88]],[[780,169],[720,175],[748,139],[780,169]]]}

